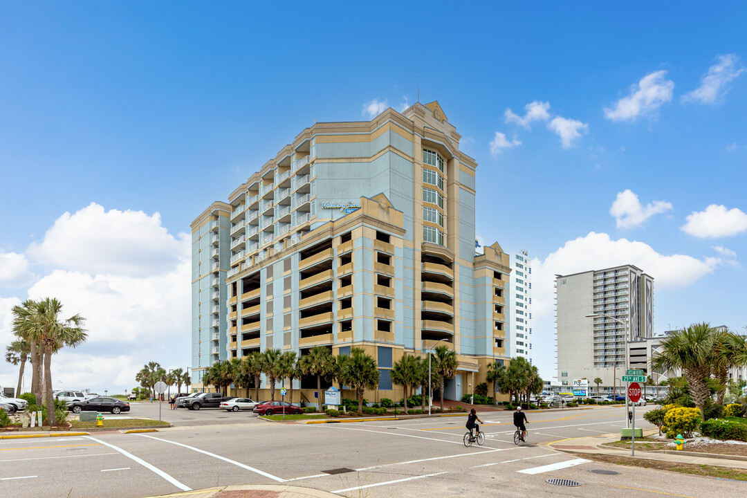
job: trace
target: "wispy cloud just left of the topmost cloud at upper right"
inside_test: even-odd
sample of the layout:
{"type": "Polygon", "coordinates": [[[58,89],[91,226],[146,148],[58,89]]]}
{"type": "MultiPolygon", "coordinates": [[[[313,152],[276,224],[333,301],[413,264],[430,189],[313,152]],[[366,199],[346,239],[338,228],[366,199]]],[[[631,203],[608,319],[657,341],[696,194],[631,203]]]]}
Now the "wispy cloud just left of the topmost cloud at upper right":
{"type": "Polygon", "coordinates": [[[672,100],[675,83],[665,78],[666,71],[655,71],[630,87],[630,95],[617,101],[613,109],[604,108],[611,121],[635,121],[638,116],[654,113],[660,105],[672,100]]]}

